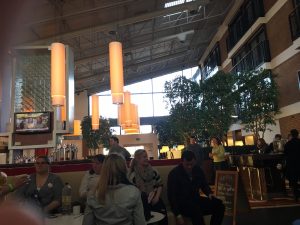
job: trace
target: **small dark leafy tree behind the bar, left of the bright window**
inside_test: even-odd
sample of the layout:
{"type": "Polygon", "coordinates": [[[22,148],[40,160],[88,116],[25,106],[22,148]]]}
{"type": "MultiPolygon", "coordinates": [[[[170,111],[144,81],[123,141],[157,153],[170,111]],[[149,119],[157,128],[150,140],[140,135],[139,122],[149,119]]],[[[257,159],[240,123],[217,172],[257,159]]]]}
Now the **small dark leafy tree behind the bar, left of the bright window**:
{"type": "Polygon", "coordinates": [[[92,130],[92,119],[85,116],[81,121],[82,138],[86,141],[89,149],[98,149],[99,145],[109,147],[109,137],[111,136],[109,120],[99,118],[99,129],[92,130]]]}

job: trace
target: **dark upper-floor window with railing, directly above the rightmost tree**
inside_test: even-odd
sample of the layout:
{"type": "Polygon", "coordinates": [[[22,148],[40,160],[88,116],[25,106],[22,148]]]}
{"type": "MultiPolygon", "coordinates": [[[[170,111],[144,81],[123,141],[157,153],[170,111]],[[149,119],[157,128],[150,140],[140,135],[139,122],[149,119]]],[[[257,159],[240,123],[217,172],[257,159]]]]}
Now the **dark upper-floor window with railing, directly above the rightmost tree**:
{"type": "Polygon", "coordinates": [[[270,50],[264,27],[232,57],[234,73],[249,71],[270,61],[270,50]]]}

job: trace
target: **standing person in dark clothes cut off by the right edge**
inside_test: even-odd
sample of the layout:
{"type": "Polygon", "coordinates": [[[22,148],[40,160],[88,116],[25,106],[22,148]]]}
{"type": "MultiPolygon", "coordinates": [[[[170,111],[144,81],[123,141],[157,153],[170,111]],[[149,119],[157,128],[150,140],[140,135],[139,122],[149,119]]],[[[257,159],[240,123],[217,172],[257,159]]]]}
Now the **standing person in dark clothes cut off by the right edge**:
{"type": "Polygon", "coordinates": [[[299,132],[296,129],[291,130],[292,139],[284,146],[286,157],[286,177],[289,180],[290,187],[293,189],[295,200],[300,197],[298,181],[300,180],[300,139],[299,132]]]}

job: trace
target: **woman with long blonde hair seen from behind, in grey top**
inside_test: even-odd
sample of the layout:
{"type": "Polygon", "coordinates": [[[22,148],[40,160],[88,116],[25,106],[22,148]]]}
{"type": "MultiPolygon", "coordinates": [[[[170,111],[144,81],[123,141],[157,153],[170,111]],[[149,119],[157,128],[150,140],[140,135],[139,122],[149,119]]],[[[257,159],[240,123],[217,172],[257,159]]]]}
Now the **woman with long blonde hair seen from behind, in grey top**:
{"type": "Polygon", "coordinates": [[[140,191],[127,179],[125,160],[104,160],[94,195],[88,197],[83,225],[145,225],[140,191]]]}

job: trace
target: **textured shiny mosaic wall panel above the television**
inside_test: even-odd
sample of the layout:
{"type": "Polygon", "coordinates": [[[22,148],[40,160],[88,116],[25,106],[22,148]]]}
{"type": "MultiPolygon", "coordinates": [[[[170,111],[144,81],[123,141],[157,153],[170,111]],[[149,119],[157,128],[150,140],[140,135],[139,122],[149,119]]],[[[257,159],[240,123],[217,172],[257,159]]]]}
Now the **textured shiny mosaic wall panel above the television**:
{"type": "Polygon", "coordinates": [[[18,55],[14,112],[52,111],[50,78],[50,51],[18,55]]]}

